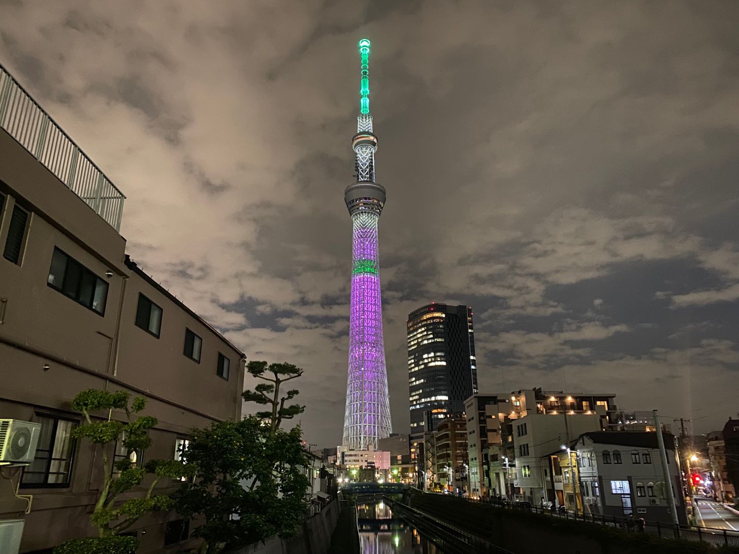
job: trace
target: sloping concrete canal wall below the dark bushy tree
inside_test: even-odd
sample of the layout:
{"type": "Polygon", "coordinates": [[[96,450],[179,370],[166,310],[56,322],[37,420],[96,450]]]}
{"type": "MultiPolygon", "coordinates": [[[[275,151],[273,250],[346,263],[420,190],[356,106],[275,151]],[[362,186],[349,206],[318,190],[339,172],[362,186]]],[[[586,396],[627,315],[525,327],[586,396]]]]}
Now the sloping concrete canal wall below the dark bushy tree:
{"type": "Polygon", "coordinates": [[[331,544],[339,510],[338,500],[334,499],[305,521],[298,536],[287,539],[272,537],[264,544],[252,544],[229,554],[324,554],[331,544]]]}

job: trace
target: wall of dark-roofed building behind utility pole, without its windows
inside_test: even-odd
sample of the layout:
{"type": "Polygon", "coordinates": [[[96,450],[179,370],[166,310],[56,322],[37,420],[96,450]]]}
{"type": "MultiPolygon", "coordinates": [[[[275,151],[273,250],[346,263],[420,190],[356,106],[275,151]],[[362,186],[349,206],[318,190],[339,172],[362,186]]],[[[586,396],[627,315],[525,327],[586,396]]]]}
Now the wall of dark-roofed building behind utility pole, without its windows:
{"type": "MultiPolygon", "coordinates": [[[[624,510],[624,502],[621,497],[626,496],[630,502],[634,517],[643,517],[649,521],[664,521],[670,523],[670,508],[667,500],[658,496],[650,496],[648,485],[664,481],[658,448],[632,447],[624,445],[609,445],[593,443],[587,437],[585,444],[578,442],[577,456],[580,460],[580,480],[583,495],[583,505],[588,513],[602,513],[606,516],[628,515],[628,509],[624,510]],[[613,451],[621,454],[621,463],[614,463],[613,451]],[[603,452],[608,451],[611,463],[605,463],[603,452]],[[632,462],[631,454],[638,454],[640,463],[632,462]],[[650,463],[644,463],[643,454],[650,456],[650,463]],[[629,485],[625,495],[613,493],[611,482],[624,481],[629,485]],[[593,482],[598,483],[598,495],[594,494],[593,482]],[[644,496],[638,496],[637,485],[644,485],[644,496]]],[[[667,456],[670,460],[670,480],[675,496],[675,504],[678,507],[678,519],[687,524],[685,500],[681,493],[680,467],[674,447],[666,441],[667,456]]]]}

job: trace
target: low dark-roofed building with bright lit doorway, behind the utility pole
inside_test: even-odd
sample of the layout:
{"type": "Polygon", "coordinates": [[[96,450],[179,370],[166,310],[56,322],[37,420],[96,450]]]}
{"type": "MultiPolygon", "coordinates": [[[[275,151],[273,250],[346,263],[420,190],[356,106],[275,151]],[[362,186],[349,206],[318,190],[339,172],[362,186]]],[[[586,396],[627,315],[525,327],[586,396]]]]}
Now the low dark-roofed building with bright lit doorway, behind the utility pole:
{"type": "MultiPolygon", "coordinates": [[[[687,524],[675,437],[663,433],[663,438],[678,519],[687,524]]],[[[586,513],[672,521],[655,432],[585,433],[573,442],[571,450],[578,461],[571,479],[577,483],[574,490],[579,490],[586,513]],[[578,468],[579,479],[575,473],[578,468]]],[[[551,486],[554,488],[554,482],[551,486]]],[[[574,505],[573,499],[567,502],[574,505]]]]}

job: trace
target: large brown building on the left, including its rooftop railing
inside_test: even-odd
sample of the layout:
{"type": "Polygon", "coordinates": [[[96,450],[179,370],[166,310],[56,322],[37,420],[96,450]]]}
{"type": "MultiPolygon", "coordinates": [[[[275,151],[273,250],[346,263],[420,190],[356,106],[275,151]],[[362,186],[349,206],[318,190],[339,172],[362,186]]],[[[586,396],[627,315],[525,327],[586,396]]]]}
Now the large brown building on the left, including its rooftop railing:
{"type": "MultiPolygon", "coordinates": [[[[94,534],[101,453],[70,436],[75,394],[146,397],[159,423],[137,462],[172,459],[191,428],[240,417],[245,356],[125,256],[123,194],[1,66],[0,90],[0,419],[41,425],[33,462],[2,470],[0,519],[24,520],[29,553],[94,534]]],[[[129,531],[166,552],[188,526],[158,513],[129,531]]]]}

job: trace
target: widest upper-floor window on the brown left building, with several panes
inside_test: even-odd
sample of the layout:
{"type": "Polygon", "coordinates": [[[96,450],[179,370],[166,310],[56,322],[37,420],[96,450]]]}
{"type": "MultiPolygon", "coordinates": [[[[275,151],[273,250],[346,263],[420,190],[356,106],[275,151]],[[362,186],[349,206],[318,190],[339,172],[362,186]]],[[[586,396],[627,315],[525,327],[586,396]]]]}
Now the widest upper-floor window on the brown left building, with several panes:
{"type": "Polygon", "coordinates": [[[58,248],[54,248],[47,284],[84,307],[105,315],[106,281],[58,248]]]}

